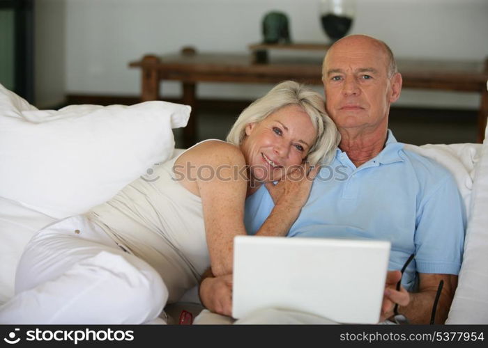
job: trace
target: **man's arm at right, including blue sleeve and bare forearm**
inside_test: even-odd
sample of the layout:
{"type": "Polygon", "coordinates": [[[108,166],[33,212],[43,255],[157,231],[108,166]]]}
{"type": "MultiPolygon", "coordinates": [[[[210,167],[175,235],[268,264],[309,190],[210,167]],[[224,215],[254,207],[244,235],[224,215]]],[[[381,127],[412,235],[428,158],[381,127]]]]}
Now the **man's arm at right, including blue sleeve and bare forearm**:
{"type": "Polygon", "coordinates": [[[466,214],[462,197],[450,173],[427,177],[418,209],[415,230],[415,267],[418,271],[418,291],[411,293],[409,306],[399,308],[413,324],[429,324],[439,283],[443,289],[437,303],[435,323],[443,324],[457,287],[461,267],[466,214]],[[436,272],[436,273],[434,273],[436,272]]]}

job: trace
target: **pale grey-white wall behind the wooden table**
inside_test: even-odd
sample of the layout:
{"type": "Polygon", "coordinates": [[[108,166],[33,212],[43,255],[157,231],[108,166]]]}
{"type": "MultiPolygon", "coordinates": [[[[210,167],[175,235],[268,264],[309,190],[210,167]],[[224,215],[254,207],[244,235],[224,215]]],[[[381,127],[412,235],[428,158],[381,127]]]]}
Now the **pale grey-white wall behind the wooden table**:
{"type": "MultiPolygon", "coordinates": [[[[43,0],[38,3],[40,6],[43,0]]],[[[50,0],[56,1],[56,0],[50,0]]],[[[60,0],[58,0],[60,1],[60,0]]],[[[62,0],[61,0],[62,1],[62,0]]],[[[66,93],[138,95],[140,72],[128,68],[144,54],[247,52],[261,40],[269,10],[289,15],[296,42],[326,42],[319,0],[64,0],[66,93]]],[[[356,0],[351,33],[385,40],[399,58],[478,59],[488,56],[487,0],[356,0]]],[[[45,37],[45,40],[49,40],[45,37]]],[[[47,81],[40,81],[41,84],[47,81]]],[[[270,86],[202,84],[200,97],[252,99],[270,86]]],[[[318,87],[317,87],[318,88],[318,87]]],[[[162,93],[180,95],[176,82],[162,93]]],[[[398,104],[477,109],[472,93],[404,90],[398,104]]]]}

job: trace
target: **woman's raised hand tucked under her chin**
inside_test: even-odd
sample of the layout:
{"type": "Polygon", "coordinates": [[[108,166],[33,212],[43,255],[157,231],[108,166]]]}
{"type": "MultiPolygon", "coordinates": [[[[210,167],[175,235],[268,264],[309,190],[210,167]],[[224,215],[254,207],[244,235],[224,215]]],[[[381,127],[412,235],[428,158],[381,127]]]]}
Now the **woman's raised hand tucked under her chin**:
{"type": "Polygon", "coordinates": [[[267,182],[265,184],[271,198],[275,205],[287,205],[291,207],[301,208],[307,202],[317,173],[319,173],[320,166],[312,166],[305,162],[302,166],[293,168],[284,179],[277,184],[267,182]]]}

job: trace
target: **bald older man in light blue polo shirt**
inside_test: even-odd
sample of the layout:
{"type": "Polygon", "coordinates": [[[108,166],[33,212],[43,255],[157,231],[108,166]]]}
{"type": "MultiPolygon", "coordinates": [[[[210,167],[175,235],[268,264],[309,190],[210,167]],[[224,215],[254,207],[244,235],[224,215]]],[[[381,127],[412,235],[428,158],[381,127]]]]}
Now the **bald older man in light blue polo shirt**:
{"type": "MultiPolygon", "coordinates": [[[[365,35],[348,36],[328,50],[322,79],[327,111],[342,140],[335,159],[317,176],[289,237],[390,240],[388,269],[402,269],[409,255],[415,258],[402,278],[408,292],[397,292],[393,286],[399,272],[388,273],[381,318],[392,317],[397,304],[397,313],[410,322],[428,323],[443,280],[436,313],[436,322],[443,323],[457,286],[466,221],[450,173],[404,150],[388,130],[390,104],[402,89],[393,54],[384,42],[365,35]]],[[[250,234],[266,219],[273,198],[279,195],[280,184],[271,184],[247,199],[250,234]]],[[[204,306],[229,315],[230,280],[230,276],[204,279],[200,287],[204,306]]],[[[293,313],[284,315],[293,317],[293,313]]],[[[269,324],[275,319],[266,317],[269,324]]],[[[321,321],[294,317],[284,322],[321,321]]]]}

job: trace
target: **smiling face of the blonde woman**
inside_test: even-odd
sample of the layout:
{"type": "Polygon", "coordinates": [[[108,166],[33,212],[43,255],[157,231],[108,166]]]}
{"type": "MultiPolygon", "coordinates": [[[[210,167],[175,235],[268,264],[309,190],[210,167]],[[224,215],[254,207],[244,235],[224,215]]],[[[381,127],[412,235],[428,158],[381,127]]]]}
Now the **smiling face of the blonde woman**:
{"type": "Polygon", "coordinates": [[[241,146],[252,179],[277,181],[303,163],[317,132],[301,106],[288,105],[245,127],[241,146]]]}

